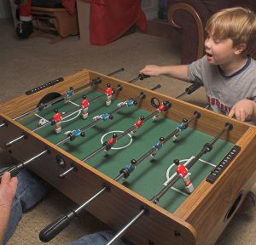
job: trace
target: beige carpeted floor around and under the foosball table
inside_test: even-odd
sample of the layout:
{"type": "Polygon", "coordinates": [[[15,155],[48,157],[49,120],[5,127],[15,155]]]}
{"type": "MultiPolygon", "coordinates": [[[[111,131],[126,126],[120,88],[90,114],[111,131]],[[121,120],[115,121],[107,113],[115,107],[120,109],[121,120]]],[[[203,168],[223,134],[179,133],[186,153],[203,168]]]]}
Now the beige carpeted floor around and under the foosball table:
{"type": "MultiPolygon", "coordinates": [[[[96,47],[81,43],[79,37],[68,37],[59,43],[49,44],[49,39],[34,37],[19,40],[15,37],[12,20],[0,20],[0,103],[24,93],[26,90],[53,80],[65,77],[88,68],[108,74],[121,67],[125,71],[115,75],[129,81],[137,77],[138,71],[146,64],[178,64],[178,40],[167,40],[142,33],[122,37],[106,46],[96,47]]],[[[138,81],[138,85],[152,88],[160,83],[161,93],[177,96],[189,84],[168,77],[152,77],[138,81]]],[[[206,103],[203,88],[184,100],[198,105],[206,103]]],[[[0,162],[9,163],[9,157],[0,152],[0,162]]],[[[253,191],[256,191],[254,185],[253,191]]],[[[64,214],[74,203],[58,191],[52,191],[37,207],[24,214],[9,245],[43,244],[38,232],[57,216],[64,214]]],[[[207,225],[207,224],[206,224],[207,225]]],[[[218,245],[256,244],[256,211],[236,214],[218,245]]],[[[84,212],[72,225],[55,237],[50,244],[65,244],[84,234],[106,229],[99,220],[84,212]]]]}

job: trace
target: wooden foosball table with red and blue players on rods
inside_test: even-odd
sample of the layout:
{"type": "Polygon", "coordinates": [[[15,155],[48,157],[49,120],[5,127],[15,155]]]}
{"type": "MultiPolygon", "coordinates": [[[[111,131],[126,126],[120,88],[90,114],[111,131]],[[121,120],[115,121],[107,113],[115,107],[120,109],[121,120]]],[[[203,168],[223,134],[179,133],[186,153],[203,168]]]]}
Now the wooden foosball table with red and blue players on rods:
{"type": "Polygon", "coordinates": [[[95,71],[0,111],[9,172],[29,168],[79,205],[43,242],[86,209],[117,232],[108,244],[214,244],[256,180],[255,126],[95,71]]]}

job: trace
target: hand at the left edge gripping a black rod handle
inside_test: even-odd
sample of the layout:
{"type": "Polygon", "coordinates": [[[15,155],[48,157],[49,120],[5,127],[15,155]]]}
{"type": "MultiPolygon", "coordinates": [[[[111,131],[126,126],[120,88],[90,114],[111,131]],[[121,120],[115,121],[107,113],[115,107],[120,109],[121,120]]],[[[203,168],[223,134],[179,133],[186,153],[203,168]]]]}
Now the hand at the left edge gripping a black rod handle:
{"type": "MultiPolygon", "coordinates": [[[[0,184],[0,208],[10,209],[17,190],[17,177],[10,177],[9,172],[3,174],[0,184]]],[[[2,210],[3,211],[3,210],[2,210]]]]}

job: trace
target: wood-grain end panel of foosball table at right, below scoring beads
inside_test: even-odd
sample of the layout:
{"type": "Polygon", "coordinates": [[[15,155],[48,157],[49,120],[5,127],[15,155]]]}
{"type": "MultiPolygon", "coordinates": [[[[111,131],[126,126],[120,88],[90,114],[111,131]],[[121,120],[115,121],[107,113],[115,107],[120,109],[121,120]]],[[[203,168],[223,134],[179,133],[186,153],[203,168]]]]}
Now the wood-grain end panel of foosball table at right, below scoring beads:
{"type": "Polygon", "coordinates": [[[244,193],[241,198],[242,202],[247,191],[256,181],[255,128],[249,128],[241,140],[236,142],[236,145],[241,146],[241,151],[217,181],[213,185],[203,181],[175,212],[178,217],[195,226],[198,231],[199,244],[208,245],[216,242],[218,236],[224,231],[224,227],[236,213],[234,212],[230,219],[224,220],[230,206],[241,191],[244,193]]]}

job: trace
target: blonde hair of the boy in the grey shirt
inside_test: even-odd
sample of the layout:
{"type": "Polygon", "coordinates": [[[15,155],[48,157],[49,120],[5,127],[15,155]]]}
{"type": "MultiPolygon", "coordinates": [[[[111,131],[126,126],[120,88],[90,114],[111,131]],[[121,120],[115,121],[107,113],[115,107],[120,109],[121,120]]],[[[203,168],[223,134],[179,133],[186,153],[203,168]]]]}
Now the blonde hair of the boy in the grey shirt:
{"type": "Polygon", "coordinates": [[[206,31],[217,39],[230,38],[234,47],[247,44],[243,54],[250,54],[256,47],[256,15],[251,9],[222,9],[207,21],[206,31]]]}

